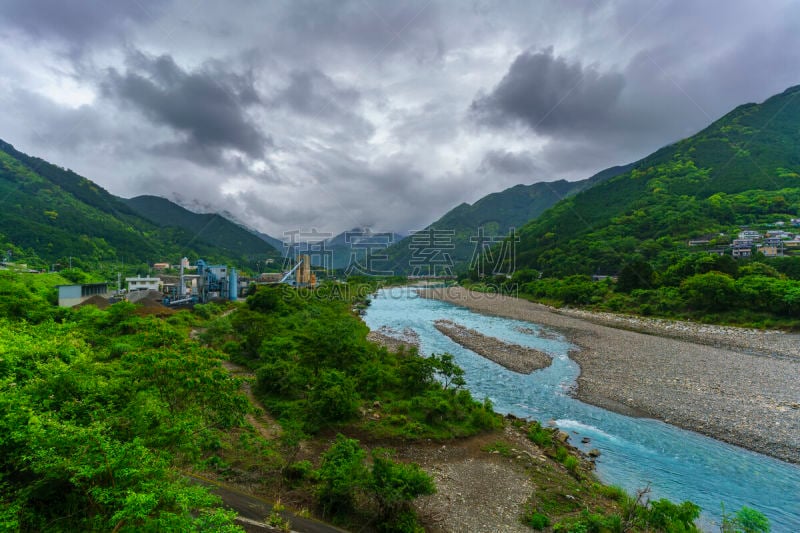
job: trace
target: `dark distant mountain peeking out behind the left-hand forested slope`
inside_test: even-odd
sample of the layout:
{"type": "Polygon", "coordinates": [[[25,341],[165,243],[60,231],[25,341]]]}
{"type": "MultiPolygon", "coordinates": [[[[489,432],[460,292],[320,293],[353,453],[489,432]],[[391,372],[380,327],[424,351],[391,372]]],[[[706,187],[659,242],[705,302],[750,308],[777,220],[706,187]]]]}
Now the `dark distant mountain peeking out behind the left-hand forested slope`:
{"type": "Polygon", "coordinates": [[[264,235],[262,238],[252,230],[216,213],[194,213],[159,196],[144,195],[122,201],[157,226],[182,228],[195,234],[198,241],[233,256],[262,254],[276,258],[282,251],[268,240],[277,241],[277,239],[266,234],[261,234],[264,235]]]}

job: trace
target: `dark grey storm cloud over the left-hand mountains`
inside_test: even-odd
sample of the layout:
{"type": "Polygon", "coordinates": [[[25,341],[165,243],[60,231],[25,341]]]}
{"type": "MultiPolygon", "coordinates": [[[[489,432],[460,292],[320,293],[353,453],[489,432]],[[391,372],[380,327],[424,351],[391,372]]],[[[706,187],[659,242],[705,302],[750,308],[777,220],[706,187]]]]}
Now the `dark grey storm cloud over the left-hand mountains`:
{"type": "Polygon", "coordinates": [[[252,78],[215,63],[187,72],[169,55],[136,53],[124,73],[109,70],[103,91],[185,135],[179,142],[157,146],[162,154],[214,162],[227,148],[259,159],[271,144],[247,113],[259,102],[252,78]]]}

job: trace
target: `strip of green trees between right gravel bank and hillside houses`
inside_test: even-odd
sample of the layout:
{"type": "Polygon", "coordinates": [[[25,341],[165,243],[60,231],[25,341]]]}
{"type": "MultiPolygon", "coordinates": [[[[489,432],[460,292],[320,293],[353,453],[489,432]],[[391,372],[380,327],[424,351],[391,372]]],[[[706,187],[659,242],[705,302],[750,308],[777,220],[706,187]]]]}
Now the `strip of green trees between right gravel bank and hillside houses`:
{"type": "Polygon", "coordinates": [[[695,253],[665,270],[631,263],[619,280],[586,275],[520,283],[517,276],[489,286],[556,306],[691,319],[750,327],[800,329],[800,257],[734,260],[695,253]]]}

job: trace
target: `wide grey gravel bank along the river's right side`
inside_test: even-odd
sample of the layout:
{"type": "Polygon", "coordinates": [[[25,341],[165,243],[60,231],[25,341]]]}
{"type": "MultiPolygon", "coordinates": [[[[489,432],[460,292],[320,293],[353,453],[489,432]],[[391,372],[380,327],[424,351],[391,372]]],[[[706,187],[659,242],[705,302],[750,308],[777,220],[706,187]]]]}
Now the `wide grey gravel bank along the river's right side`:
{"type": "Polygon", "coordinates": [[[800,463],[800,356],[792,336],[713,326],[684,331],[647,319],[620,329],[614,322],[628,317],[562,312],[460,287],[420,293],[559,331],[578,347],[570,355],[581,367],[581,401],[800,463]],[[631,331],[637,327],[646,333],[631,331]]]}

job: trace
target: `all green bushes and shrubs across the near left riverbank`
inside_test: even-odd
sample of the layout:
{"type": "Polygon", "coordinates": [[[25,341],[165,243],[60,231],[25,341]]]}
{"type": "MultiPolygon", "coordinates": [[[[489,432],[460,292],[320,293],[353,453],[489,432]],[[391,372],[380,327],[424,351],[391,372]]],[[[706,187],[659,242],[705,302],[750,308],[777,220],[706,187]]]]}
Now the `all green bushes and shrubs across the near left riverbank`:
{"type": "MultiPolygon", "coordinates": [[[[58,309],[53,285],[63,280],[0,272],[4,529],[238,530],[216,497],[186,481],[183,472],[198,469],[225,479],[258,473],[275,485],[278,503],[265,520],[278,528],[289,527],[281,496],[306,494],[321,516],[344,525],[421,531],[412,503],[435,492],[433,481],[383,443],[502,426],[489,402],[463,390],[463,372],[449,355],[392,353],[366,341],[353,309],[367,305],[373,285],[313,294],[265,287],[246,304],[227,306],[230,314],[208,304],[156,318],[127,303],[58,309]],[[207,345],[188,335],[201,327],[207,345]],[[222,368],[220,349],[255,370],[253,390],[279,416],[280,438],[267,440],[245,423],[251,404],[242,379],[222,368]],[[381,444],[362,447],[345,434],[381,444]],[[298,460],[301,440],[318,451],[298,460]]],[[[648,502],[599,485],[555,430],[518,422],[554,459],[529,467],[537,491],[524,523],[694,531],[691,504],[648,502]]],[[[486,450],[519,459],[502,433],[485,438],[493,442],[486,450]]],[[[762,519],[744,508],[726,517],[725,531],[768,531],[762,519]]]]}

